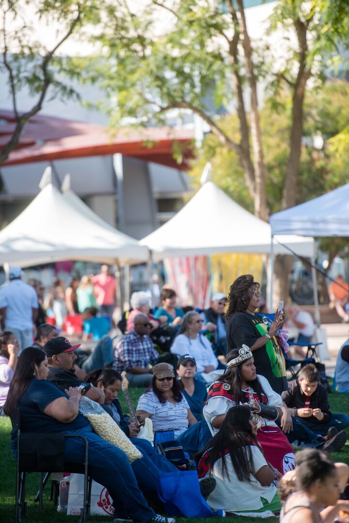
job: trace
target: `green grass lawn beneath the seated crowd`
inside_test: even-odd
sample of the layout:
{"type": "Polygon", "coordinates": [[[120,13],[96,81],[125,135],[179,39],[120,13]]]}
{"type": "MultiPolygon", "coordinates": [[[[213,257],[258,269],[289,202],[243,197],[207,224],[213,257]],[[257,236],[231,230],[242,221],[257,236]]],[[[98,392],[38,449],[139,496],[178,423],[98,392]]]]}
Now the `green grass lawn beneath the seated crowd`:
{"type": "MultiPolygon", "coordinates": [[[[143,389],[130,389],[131,398],[133,404],[137,404],[139,395],[143,392],[143,389]]],[[[120,393],[120,400],[123,404],[124,412],[127,412],[126,404],[123,401],[123,394],[120,393]]],[[[330,405],[332,412],[342,412],[349,414],[349,394],[338,394],[333,393],[330,395],[330,405]]],[[[2,523],[10,523],[15,520],[15,492],[16,492],[16,467],[15,460],[9,449],[10,440],[10,422],[8,418],[0,418],[0,456],[1,456],[1,471],[0,471],[0,521],[2,523]]],[[[341,452],[333,454],[335,461],[344,461],[349,464],[349,444],[347,443],[341,452]]],[[[28,474],[27,485],[26,485],[26,501],[28,502],[28,517],[25,519],[28,523],[36,522],[56,522],[56,521],[78,521],[76,516],[65,516],[57,513],[55,507],[50,502],[50,484],[46,485],[45,496],[44,496],[44,511],[39,512],[38,505],[34,503],[34,497],[36,496],[39,485],[39,474],[28,474]]],[[[185,518],[176,518],[177,521],[183,522],[185,518]]],[[[225,521],[228,523],[229,519],[234,519],[236,523],[257,523],[260,521],[259,518],[244,518],[234,517],[226,518],[225,521]]],[[[88,521],[100,522],[112,521],[112,518],[90,516],[88,521]]],[[[191,521],[200,521],[205,523],[222,522],[222,518],[210,518],[210,519],[192,519],[191,521]]],[[[276,518],[269,519],[270,523],[275,523],[276,518]]]]}

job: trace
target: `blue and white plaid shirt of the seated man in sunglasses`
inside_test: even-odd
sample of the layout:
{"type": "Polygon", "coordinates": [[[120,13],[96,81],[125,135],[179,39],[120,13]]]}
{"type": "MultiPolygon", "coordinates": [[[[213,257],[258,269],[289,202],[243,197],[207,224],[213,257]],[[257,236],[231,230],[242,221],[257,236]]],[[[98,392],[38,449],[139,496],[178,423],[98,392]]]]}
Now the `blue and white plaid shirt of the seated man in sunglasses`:
{"type": "Polygon", "coordinates": [[[149,368],[158,359],[159,353],[149,336],[139,336],[136,331],[123,336],[115,347],[113,369],[118,372],[130,370],[133,367],[149,368]]]}

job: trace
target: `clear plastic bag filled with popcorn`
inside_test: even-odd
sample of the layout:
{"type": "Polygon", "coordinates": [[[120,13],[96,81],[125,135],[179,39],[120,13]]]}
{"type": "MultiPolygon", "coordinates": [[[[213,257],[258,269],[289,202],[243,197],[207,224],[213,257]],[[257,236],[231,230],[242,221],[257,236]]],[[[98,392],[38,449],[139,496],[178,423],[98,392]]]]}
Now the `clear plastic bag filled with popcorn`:
{"type": "Polygon", "coordinates": [[[83,396],[79,403],[79,412],[87,417],[98,436],[125,452],[130,463],[142,458],[142,453],[131,443],[119,425],[103,410],[101,405],[83,396]]]}

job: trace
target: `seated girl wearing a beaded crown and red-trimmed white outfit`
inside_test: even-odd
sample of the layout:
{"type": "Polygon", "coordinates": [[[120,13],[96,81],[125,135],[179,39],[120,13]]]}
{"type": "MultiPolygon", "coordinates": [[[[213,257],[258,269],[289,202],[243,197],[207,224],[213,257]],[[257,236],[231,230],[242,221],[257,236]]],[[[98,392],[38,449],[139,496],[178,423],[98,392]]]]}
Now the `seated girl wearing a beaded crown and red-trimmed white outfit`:
{"type": "Polygon", "coordinates": [[[243,345],[227,355],[227,371],[208,390],[203,413],[218,430],[227,412],[235,405],[249,403],[258,414],[257,439],[265,457],[282,474],[294,468],[294,451],[275,420],[282,416],[281,396],[264,376],[256,373],[250,349],[243,345]]]}

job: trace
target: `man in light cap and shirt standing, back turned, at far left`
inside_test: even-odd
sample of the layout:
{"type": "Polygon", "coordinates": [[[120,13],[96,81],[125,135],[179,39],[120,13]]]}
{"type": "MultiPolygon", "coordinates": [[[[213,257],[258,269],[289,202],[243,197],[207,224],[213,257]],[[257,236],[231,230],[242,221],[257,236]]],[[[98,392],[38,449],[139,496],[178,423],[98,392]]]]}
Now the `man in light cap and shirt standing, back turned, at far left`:
{"type": "Polygon", "coordinates": [[[19,343],[18,356],[33,343],[33,327],[38,315],[38,296],[33,287],[21,280],[20,267],[10,267],[9,284],[0,291],[0,326],[10,331],[19,343]]]}

